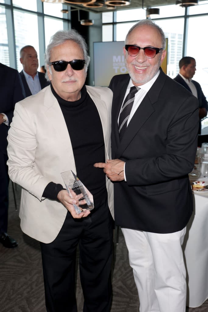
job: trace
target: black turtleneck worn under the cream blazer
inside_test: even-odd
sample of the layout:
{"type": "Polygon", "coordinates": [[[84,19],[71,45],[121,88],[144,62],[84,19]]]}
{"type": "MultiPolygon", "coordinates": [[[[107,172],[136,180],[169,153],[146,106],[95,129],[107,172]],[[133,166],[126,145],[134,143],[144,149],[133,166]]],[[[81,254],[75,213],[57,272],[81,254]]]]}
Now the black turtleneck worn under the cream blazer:
{"type": "MultiPolygon", "coordinates": [[[[105,162],[103,129],[98,110],[85,85],[81,89],[80,100],[74,102],[62,99],[52,85],[51,91],[60,105],[69,131],[77,177],[92,193],[96,208],[100,200],[107,196],[105,174],[102,169],[93,166],[94,163],[105,162]]],[[[62,185],[51,182],[46,186],[43,197],[57,199],[61,189],[62,185]]]]}

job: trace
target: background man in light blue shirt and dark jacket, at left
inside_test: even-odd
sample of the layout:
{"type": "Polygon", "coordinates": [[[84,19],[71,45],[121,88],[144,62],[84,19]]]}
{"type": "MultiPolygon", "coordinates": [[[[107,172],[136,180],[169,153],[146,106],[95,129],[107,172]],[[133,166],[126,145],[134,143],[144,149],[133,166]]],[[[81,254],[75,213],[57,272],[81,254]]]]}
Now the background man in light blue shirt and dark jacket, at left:
{"type": "Polygon", "coordinates": [[[23,66],[20,76],[26,97],[38,93],[41,89],[49,85],[45,74],[37,71],[39,66],[38,57],[33,46],[23,46],[20,50],[20,62],[23,66]]]}

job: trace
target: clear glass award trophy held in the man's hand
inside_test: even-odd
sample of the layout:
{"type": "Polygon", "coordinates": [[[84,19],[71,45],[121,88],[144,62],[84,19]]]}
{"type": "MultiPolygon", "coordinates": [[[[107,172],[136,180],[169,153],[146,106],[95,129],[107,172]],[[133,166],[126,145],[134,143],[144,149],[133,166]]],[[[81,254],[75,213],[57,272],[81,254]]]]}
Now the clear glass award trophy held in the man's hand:
{"type": "Polygon", "coordinates": [[[94,208],[93,196],[73,171],[62,172],[61,176],[70,197],[77,200],[77,204],[73,204],[76,213],[92,210],[94,208]]]}

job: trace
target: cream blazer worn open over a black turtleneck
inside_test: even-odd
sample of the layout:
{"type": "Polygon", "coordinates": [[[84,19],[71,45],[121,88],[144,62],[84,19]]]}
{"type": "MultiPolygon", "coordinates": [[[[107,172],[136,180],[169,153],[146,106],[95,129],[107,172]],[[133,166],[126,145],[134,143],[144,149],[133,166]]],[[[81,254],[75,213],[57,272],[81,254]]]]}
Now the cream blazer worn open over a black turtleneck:
{"type": "MultiPolygon", "coordinates": [[[[99,112],[105,158],[110,159],[113,93],[104,87],[86,88],[99,112]]],[[[50,243],[60,232],[67,209],[58,201],[42,197],[43,191],[51,181],[65,187],[61,172],[72,170],[76,173],[70,136],[50,86],[15,105],[7,139],[9,177],[22,186],[19,213],[22,231],[38,241],[50,243]]],[[[106,186],[114,217],[113,183],[107,178],[106,186]]]]}

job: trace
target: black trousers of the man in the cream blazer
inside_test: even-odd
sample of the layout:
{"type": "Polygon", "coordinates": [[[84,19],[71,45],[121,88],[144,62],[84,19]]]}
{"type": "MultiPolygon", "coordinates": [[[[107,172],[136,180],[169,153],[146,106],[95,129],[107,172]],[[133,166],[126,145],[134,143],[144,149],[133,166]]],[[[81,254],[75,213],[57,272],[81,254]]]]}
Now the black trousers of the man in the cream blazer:
{"type": "Polygon", "coordinates": [[[46,309],[48,312],[77,312],[78,244],[83,311],[108,312],[112,301],[113,219],[107,200],[86,218],[74,219],[68,212],[56,239],[50,244],[41,243],[46,309]]]}

